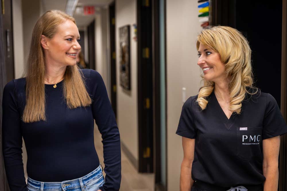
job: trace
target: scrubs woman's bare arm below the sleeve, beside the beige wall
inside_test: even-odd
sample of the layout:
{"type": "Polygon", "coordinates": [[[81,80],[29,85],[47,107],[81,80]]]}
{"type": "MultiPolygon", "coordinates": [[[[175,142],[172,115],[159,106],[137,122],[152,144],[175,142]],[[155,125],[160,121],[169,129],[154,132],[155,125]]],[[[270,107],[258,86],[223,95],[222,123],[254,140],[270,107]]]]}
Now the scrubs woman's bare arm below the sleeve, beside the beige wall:
{"type": "Polygon", "coordinates": [[[194,158],[195,139],[182,137],[183,160],[180,171],[180,191],[190,191],[193,185],[191,167],[194,158]]]}

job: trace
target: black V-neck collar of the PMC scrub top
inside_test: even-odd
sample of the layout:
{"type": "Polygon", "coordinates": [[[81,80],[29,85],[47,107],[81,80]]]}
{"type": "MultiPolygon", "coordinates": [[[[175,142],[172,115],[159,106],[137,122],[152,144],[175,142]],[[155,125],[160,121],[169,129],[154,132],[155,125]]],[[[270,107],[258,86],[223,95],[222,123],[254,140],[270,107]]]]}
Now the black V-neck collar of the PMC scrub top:
{"type": "Polygon", "coordinates": [[[212,93],[210,94],[210,100],[208,101],[208,103],[211,103],[210,105],[212,106],[212,108],[214,108],[214,110],[218,112],[218,115],[220,116],[220,119],[222,120],[226,129],[230,129],[230,127],[232,127],[234,123],[234,117],[236,116],[236,112],[233,112],[230,118],[228,119],[223,109],[221,108],[220,104],[218,103],[214,91],[212,91],[212,93]]]}

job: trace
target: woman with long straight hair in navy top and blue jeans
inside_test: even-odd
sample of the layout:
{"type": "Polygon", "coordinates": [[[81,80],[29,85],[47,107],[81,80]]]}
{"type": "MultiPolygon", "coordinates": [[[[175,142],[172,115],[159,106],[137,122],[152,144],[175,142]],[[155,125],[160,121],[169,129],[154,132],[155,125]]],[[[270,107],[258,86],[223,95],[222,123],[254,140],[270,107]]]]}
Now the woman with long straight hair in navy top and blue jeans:
{"type": "Polygon", "coordinates": [[[79,38],[73,17],[47,11],[32,33],[26,77],[4,88],[3,156],[11,191],[119,190],[119,130],[102,77],[76,65],[79,38]],[[105,178],[94,147],[94,121],[103,139],[105,178]]]}

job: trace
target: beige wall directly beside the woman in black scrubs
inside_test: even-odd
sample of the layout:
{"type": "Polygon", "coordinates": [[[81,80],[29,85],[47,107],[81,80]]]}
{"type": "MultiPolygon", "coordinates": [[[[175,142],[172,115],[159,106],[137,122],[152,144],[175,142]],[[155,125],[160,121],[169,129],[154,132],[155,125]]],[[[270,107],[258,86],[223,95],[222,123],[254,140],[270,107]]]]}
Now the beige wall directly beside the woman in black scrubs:
{"type": "Polygon", "coordinates": [[[179,190],[183,159],[181,137],[176,135],[181,114],[182,88],[186,99],[198,94],[200,69],[195,41],[201,31],[197,1],[166,0],[167,180],[168,190],[179,190]]]}

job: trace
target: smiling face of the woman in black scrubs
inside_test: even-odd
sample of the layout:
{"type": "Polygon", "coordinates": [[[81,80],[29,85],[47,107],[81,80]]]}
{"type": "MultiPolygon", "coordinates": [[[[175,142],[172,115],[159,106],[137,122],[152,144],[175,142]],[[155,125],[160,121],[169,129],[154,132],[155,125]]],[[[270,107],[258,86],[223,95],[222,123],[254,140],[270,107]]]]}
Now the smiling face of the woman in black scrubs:
{"type": "Polygon", "coordinates": [[[220,60],[220,55],[210,47],[199,45],[197,64],[203,70],[204,79],[218,82],[225,78],[225,65],[220,60]]]}

